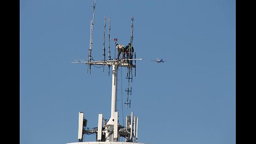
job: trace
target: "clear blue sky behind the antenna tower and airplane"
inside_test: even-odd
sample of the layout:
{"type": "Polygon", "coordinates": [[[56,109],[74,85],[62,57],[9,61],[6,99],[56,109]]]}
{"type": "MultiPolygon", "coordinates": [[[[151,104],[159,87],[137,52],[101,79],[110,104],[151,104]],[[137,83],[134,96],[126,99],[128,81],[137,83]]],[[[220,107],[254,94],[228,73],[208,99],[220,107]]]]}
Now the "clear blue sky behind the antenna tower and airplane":
{"type": "MultiPolygon", "coordinates": [[[[79,111],[90,128],[97,127],[98,114],[110,118],[108,68],[92,66],[89,74],[86,65],[71,63],[87,60],[92,2],[20,1],[21,144],[77,142],[79,111]]],[[[127,79],[126,68],[119,68],[117,109],[122,125],[122,115],[139,117],[139,142],[236,143],[235,1],[97,0],[94,60],[103,59],[105,14],[112,58],[114,38],[130,42],[134,17],[133,46],[143,60],[129,109],[122,110],[127,79]],[[150,61],[156,58],[167,62],[150,61]]]]}

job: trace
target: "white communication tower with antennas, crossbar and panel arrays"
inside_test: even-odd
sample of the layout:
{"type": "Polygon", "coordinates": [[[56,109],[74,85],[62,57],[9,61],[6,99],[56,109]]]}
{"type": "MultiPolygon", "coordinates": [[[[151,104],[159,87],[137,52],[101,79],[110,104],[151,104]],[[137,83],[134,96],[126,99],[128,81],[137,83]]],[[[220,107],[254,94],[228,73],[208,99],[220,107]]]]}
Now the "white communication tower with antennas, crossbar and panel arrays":
{"type": "MultiPolygon", "coordinates": [[[[132,87],[130,87],[130,82],[133,78],[133,69],[136,76],[136,53],[134,52],[134,59],[130,59],[130,55],[125,59],[111,59],[110,56],[110,18],[109,23],[109,33],[108,33],[108,60],[106,60],[105,53],[105,34],[106,34],[106,15],[104,17],[104,32],[103,32],[103,60],[93,60],[92,58],[92,38],[93,38],[93,25],[94,25],[94,13],[95,13],[95,3],[93,0],[93,17],[91,20],[91,33],[90,33],[90,47],[88,61],[73,61],[71,63],[84,63],[87,65],[87,73],[91,74],[92,65],[108,66],[108,74],[110,73],[110,67],[112,67],[112,91],[111,91],[111,116],[109,119],[103,119],[103,115],[99,114],[98,117],[98,127],[89,129],[87,127],[87,119],[84,118],[84,113],[81,111],[78,113],[78,142],[72,142],[67,144],[143,144],[138,142],[138,121],[139,118],[135,117],[133,111],[131,111],[130,116],[126,116],[125,126],[118,123],[118,111],[116,110],[116,94],[117,94],[117,76],[118,67],[126,67],[128,79],[128,87],[125,90],[127,92],[127,100],[125,102],[127,108],[131,106],[131,100],[129,100],[129,95],[131,95],[132,87]],[[85,142],[85,134],[96,134],[95,141],[85,142]],[[125,142],[121,141],[121,137],[125,138],[125,142]]],[[[133,16],[131,18],[131,46],[133,42],[133,16]]],[[[115,44],[117,38],[114,39],[115,44]]],[[[115,45],[116,46],[116,45],[115,45]]]]}

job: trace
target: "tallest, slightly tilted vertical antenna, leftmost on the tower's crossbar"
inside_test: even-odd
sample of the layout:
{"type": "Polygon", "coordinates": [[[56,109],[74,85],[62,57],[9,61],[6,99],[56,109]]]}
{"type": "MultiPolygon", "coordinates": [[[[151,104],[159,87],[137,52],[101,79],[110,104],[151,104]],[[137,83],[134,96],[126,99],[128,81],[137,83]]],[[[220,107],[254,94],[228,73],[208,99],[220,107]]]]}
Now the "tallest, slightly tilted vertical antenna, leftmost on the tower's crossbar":
{"type": "Polygon", "coordinates": [[[95,13],[95,4],[96,0],[93,1],[93,15],[92,15],[92,20],[91,20],[91,33],[90,33],[90,49],[89,49],[89,55],[88,55],[88,63],[87,63],[87,73],[88,73],[88,68],[90,67],[90,74],[91,74],[91,65],[89,62],[91,62],[92,59],[92,35],[93,35],[93,24],[94,24],[94,13],[95,13]]]}

